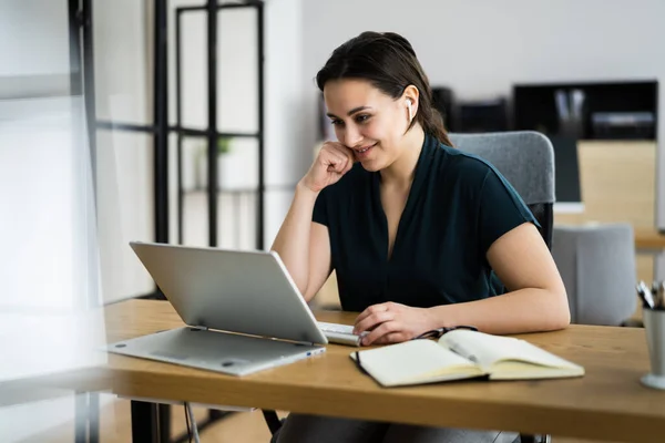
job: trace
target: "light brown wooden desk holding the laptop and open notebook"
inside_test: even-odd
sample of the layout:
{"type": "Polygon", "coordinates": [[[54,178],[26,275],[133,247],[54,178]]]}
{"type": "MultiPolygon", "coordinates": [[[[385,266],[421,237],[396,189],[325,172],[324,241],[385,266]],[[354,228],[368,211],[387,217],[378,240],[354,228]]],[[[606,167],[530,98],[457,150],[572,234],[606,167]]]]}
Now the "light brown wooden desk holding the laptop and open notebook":
{"type": "MultiPolygon", "coordinates": [[[[345,312],[318,312],[350,322],[345,312]]],[[[182,326],[165,301],[131,300],[105,308],[109,341],[182,326]]],[[[424,425],[549,433],[612,441],[665,437],[665,392],[640,384],[648,370],[644,331],[573,326],[523,336],[583,364],[586,375],[525,382],[467,381],[382,389],[348,354],[323,356],[234,378],[202,370],[110,356],[111,391],[130,398],[235,404],[424,425]]]]}

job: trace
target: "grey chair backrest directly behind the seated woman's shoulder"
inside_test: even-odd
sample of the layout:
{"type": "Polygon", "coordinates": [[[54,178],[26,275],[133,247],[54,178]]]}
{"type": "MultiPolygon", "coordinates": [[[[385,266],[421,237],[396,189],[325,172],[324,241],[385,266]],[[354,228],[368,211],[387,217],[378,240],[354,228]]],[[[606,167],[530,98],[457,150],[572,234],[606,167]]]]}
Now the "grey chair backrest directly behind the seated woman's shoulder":
{"type": "Polygon", "coordinates": [[[515,188],[541,225],[540,233],[552,248],[554,220],[554,148],[534,131],[450,134],[460,151],[491,163],[515,188]]]}

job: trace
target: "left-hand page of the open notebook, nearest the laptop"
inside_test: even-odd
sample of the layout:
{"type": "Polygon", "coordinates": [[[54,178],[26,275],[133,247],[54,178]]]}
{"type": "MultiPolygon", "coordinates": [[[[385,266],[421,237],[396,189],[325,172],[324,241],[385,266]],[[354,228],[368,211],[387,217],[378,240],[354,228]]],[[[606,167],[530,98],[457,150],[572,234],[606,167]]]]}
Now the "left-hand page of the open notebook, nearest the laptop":
{"type": "Polygon", "coordinates": [[[416,381],[441,372],[454,373],[456,370],[470,374],[479,372],[470,361],[431,340],[412,340],[360,351],[359,354],[362,368],[386,385],[416,381]]]}

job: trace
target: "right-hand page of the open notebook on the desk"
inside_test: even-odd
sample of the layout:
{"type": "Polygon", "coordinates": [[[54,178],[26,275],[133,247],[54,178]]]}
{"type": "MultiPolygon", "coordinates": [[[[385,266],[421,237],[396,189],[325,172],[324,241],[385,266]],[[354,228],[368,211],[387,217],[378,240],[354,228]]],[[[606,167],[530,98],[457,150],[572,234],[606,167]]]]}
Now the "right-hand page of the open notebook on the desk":
{"type": "Polygon", "coordinates": [[[491,336],[469,330],[456,330],[442,336],[439,342],[462,356],[469,356],[488,369],[502,360],[520,360],[551,368],[573,368],[575,364],[524,340],[491,336]]]}

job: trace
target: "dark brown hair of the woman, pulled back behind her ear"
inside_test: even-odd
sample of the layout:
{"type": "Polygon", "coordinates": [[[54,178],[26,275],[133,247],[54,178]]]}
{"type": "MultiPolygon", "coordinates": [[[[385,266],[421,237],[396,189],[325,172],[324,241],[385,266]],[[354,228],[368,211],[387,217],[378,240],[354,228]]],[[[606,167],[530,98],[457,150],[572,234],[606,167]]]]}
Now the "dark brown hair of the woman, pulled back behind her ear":
{"type": "Polygon", "coordinates": [[[420,123],[426,133],[452,146],[441,114],[432,104],[432,90],[411,43],[393,32],[362,32],[337,48],[316,75],[319,90],[330,80],[364,79],[375,87],[399,99],[407,86],[420,92],[416,119],[409,130],[420,123]]]}

